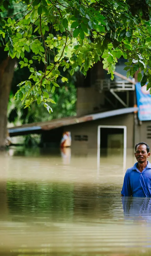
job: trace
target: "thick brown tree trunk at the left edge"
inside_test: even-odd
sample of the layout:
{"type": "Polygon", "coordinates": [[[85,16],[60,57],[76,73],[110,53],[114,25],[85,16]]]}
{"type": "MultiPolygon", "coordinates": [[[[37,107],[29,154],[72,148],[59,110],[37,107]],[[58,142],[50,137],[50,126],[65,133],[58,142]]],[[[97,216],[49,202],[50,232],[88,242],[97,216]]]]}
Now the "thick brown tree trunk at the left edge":
{"type": "Polygon", "coordinates": [[[7,107],[14,74],[15,59],[8,57],[7,52],[2,52],[0,63],[0,150],[5,149],[7,134],[7,107]]]}

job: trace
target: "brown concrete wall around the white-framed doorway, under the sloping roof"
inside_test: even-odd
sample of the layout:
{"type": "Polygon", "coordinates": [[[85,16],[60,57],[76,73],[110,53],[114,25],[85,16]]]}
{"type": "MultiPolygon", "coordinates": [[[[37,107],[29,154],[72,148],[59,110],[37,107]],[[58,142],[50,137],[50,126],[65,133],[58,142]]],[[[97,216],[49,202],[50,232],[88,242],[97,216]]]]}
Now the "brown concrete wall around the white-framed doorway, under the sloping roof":
{"type": "Polygon", "coordinates": [[[70,131],[72,137],[71,148],[97,148],[98,125],[126,125],[127,127],[127,148],[133,148],[133,113],[119,115],[112,118],[98,119],[76,125],[64,127],[64,131],[70,131]],[[86,135],[87,141],[76,141],[75,135],[86,135]]]}

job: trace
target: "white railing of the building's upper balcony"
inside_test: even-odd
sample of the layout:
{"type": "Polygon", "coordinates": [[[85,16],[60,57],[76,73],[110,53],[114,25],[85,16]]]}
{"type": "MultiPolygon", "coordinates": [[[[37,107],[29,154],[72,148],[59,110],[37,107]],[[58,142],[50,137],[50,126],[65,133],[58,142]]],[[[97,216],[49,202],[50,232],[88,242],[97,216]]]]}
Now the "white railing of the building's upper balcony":
{"type": "Polygon", "coordinates": [[[131,82],[122,79],[97,79],[95,86],[99,91],[114,89],[114,91],[131,91],[135,90],[135,85],[131,82]]]}

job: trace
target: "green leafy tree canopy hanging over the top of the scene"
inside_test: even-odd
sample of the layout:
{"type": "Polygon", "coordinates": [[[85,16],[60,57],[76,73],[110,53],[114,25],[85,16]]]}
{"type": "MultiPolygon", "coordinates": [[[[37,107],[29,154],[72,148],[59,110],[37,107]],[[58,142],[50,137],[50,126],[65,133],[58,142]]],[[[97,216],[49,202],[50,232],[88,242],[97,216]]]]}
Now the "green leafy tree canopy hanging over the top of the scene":
{"type": "Polygon", "coordinates": [[[50,113],[58,79],[67,83],[64,74],[77,70],[86,75],[100,58],[113,79],[123,56],[127,77],[139,70],[138,81],[151,87],[150,0],[1,0],[0,5],[1,46],[11,58],[22,58],[20,68],[31,73],[15,94],[25,107],[37,101],[50,113]],[[12,5],[15,11],[9,15],[12,5]],[[37,62],[42,69],[37,70],[37,62]]]}

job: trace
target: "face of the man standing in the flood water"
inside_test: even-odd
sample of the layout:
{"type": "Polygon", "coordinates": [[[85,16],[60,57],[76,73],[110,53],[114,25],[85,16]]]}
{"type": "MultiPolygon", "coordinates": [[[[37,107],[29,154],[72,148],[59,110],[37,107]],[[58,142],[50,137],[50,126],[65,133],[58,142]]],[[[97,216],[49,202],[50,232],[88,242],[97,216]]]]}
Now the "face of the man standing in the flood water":
{"type": "Polygon", "coordinates": [[[141,144],[136,148],[135,157],[138,163],[143,163],[150,156],[150,152],[147,153],[146,145],[141,144]]]}

